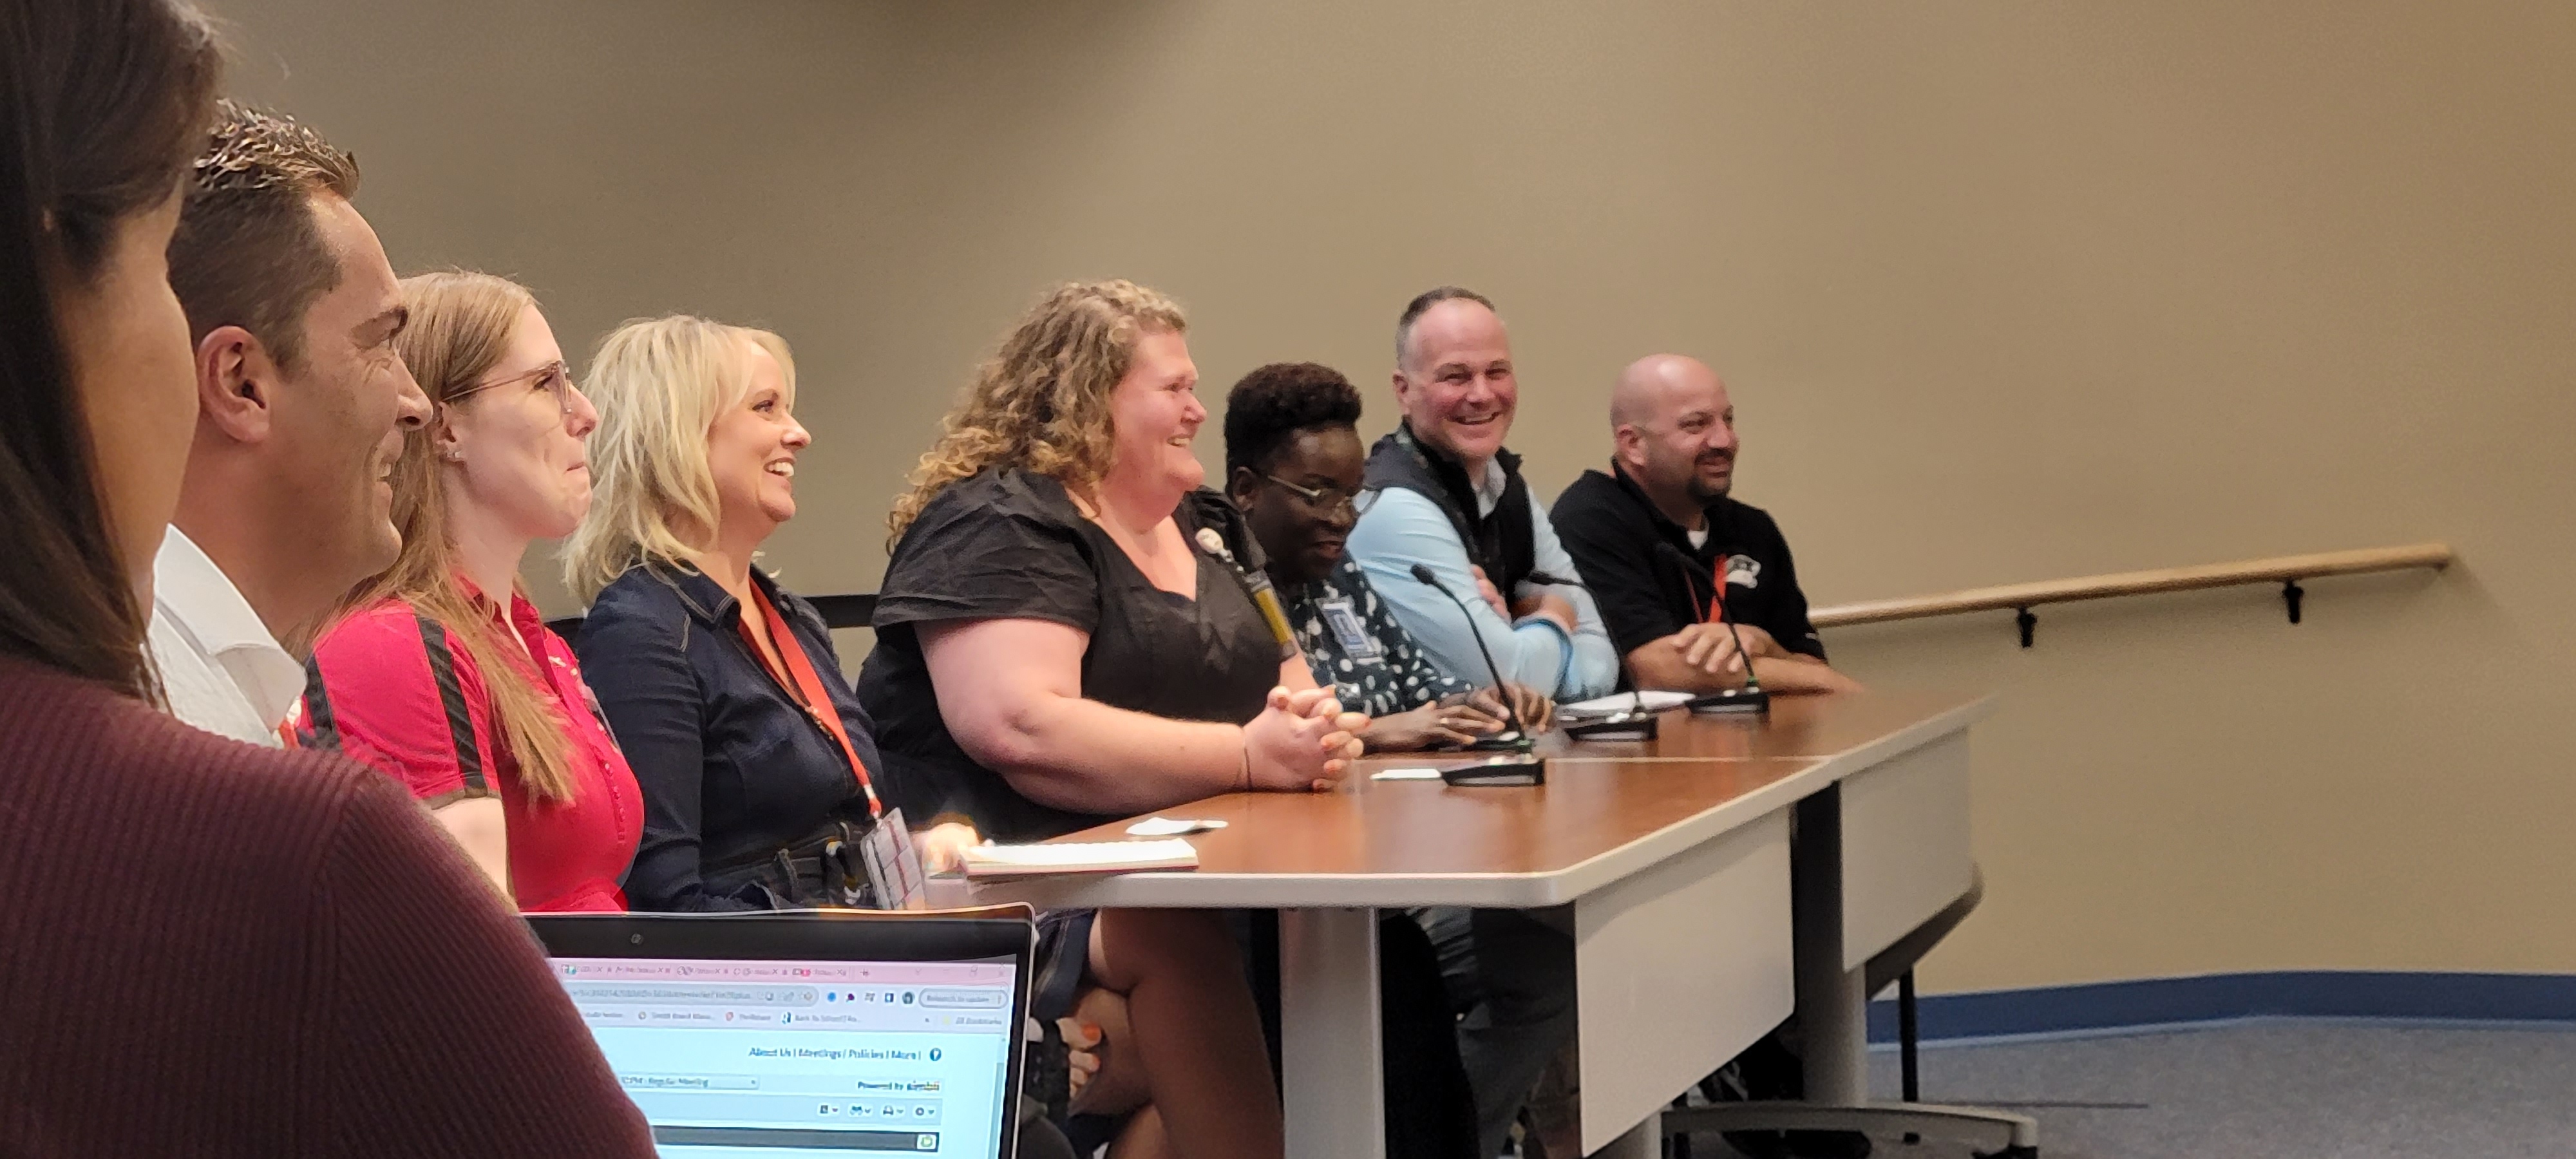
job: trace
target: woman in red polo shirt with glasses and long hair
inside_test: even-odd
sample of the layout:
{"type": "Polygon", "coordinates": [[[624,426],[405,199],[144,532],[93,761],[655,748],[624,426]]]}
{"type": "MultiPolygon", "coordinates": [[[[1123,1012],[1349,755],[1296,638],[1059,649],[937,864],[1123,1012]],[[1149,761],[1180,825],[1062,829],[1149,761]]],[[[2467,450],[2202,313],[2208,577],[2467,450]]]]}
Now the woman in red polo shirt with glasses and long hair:
{"type": "Polygon", "coordinates": [[[520,909],[626,909],[644,798],[518,564],[590,510],[600,425],[536,299],[404,278],[394,340],[438,417],[392,469],[402,556],[314,641],[299,737],[399,778],[520,909]]]}

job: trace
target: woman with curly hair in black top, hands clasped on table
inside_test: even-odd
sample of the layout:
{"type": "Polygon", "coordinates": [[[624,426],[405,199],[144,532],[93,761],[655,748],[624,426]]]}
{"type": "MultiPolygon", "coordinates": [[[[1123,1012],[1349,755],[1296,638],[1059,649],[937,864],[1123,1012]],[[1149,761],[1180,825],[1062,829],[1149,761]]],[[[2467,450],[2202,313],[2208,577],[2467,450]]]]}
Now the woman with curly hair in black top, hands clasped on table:
{"type": "MultiPolygon", "coordinates": [[[[917,793],[907,811],[1033,840],[1329,786],[1358,757],[1368,719],[1273,636],[1236,569],[1257,546],[1200,487],[1208,412],[1182,327],[1144,286],[1059,286],[914,469],[858,677],[889,780],[917,793]]],[[[1110,1025],[1077,1107],[1149,1105],[1121,1151],[1280,1154],[1257,1012],[1213,914],[1069,912],[1041,930],[1041,1010],[1079,989],[1082,1017],[1110,1025]]]]}

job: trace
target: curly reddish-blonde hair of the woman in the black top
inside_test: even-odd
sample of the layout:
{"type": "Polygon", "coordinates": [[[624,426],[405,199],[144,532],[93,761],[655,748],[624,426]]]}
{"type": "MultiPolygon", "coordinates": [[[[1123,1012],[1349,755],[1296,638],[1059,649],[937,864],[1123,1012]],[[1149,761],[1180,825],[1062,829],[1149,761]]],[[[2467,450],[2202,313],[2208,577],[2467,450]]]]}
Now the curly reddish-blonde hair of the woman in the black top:
{"type": "Polygon", "coordinates": [[[1069,281],[1038,301],[940,420],[886,515],[886,549],[948,484],[1018,466],[1090,492],[1110,469],[1110,394],[1144,332],[1188,332],[1180,304],[1133,281],[1069,281]]]}

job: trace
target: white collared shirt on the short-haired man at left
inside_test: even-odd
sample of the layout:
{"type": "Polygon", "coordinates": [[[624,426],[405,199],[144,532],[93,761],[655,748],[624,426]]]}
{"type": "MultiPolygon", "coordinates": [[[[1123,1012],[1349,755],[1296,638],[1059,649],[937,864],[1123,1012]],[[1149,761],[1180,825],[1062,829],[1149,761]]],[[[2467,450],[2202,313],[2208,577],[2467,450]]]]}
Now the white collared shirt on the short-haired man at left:
{"type": "Polygon", "coordinates": [[[178,528],[152,559],[152,664],[170,716],[252,744],[286,744],[278,724],[304,695],[304,664],[178,528]]]}

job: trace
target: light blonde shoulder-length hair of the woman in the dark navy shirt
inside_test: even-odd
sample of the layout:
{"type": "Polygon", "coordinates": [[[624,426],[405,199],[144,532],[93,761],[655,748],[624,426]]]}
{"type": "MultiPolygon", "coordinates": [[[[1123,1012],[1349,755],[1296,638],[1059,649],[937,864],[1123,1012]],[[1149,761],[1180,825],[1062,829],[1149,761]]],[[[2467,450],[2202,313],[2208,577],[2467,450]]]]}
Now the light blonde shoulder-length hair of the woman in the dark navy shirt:
{"type": "Polygon", "coordinates": [[[778,358],[796,402],[796,358],[768,330],[690,314],[634,319],[590,361],[590,515],[564,543],[564,587],[585,605],[636,564],[688,564],[716,543],[706,433],[752,391],[744,345],[778,358]]]}

